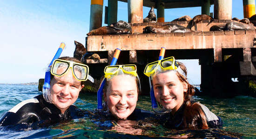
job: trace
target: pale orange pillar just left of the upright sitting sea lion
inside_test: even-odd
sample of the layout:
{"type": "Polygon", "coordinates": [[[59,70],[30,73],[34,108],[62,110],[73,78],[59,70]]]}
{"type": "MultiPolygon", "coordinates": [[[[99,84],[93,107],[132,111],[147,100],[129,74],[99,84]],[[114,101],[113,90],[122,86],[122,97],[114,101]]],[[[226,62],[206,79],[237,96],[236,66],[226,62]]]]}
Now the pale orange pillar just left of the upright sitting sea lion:
{"type": "Polygon", "coordinates": [[[128,22],[143,23],[143,0],[128,0],[128,22]]]}

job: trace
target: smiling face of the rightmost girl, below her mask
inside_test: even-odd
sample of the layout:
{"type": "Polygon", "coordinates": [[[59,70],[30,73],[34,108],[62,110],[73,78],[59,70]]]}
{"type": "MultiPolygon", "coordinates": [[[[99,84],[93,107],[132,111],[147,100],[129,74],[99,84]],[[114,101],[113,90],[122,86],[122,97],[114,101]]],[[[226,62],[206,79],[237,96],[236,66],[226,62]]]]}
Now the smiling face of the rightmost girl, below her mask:
{"type": "Polygon", "coordinates": [[[153,76],[153,88],[156,101],[174,114],[184,101],[183,92],[187,91],[187,84],[181,82],[176,71],[168,71],[153,76]]]}

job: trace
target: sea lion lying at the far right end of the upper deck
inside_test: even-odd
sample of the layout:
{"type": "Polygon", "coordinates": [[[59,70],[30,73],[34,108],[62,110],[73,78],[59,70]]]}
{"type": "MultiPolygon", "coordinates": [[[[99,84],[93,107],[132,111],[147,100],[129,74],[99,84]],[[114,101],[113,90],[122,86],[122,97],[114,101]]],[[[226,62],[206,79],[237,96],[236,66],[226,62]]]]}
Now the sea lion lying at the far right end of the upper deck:
{"type": "Polygon", "coordinates": [[[234,30],[255,30],[254,26],[251,24],[238,23],[238,22],[228,22],[225,26],[213,25],[210,31],[234,31],[234,30]]]}

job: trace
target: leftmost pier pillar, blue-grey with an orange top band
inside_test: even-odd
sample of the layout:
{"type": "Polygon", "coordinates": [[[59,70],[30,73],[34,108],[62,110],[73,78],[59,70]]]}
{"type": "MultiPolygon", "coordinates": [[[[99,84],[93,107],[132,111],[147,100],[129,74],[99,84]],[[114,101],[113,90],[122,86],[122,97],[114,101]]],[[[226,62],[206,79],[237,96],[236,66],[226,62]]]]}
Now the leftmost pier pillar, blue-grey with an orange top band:
{"type": "Polygon", "coordinates": [[[103,0],[91,0],[90,31],[102,25],[103,0]]]}

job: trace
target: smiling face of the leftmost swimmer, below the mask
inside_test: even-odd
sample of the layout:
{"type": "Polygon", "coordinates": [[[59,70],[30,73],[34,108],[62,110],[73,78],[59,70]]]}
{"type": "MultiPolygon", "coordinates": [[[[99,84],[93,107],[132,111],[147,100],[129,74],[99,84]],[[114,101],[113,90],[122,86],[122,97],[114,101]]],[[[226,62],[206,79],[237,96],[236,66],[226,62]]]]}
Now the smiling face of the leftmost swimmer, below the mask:
{"type": "Polygon", "coordinates": [[[64,113],[78,98],[80,90],[84,87],[81,81],[77,81],[68,69],[61,77],[54,76],[51,80],[51,95],[53,104],[64,113]]]}

